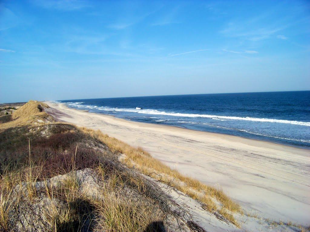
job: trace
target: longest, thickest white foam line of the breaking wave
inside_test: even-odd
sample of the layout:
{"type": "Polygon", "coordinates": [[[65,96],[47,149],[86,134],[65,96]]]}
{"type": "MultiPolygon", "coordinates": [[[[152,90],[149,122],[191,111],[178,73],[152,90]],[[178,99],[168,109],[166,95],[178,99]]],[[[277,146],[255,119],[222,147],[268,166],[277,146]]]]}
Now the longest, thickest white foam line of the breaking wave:
{"type": "Polygon", "coordinates": [[[98,109],[108,110],[108,111],[115,110],[115,111],[134,112],[138,114],[169,115],[169,116],[188,117],[188,118],[212,118],[215,120],[244,120],[244,121],[253,121],[253,122],[277,122],[277,123],[286,123],[286,124],[294,124],[294,125],[310,127],[310,122],[290,121],[290,120],[272,119],[272,118],[219,116],[219,115],[209,115],[209,114],[184,114],[184,113],[165,112],[165,111],[148,110],[148,109],[145,109],[145,110],[117,109],[117,108],[111,108],[111,107],[100,107],[98,109]]]}

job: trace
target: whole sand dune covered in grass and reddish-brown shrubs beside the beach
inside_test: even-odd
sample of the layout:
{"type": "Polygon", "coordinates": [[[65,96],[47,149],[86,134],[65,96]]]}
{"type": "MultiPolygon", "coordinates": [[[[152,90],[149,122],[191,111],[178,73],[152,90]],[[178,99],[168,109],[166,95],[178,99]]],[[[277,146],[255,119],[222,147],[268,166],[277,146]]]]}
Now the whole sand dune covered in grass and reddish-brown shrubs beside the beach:
{"type": "Polygon", "coordinates": [[[235,231],[259,220],[223,190],[46,109],[29,101],[0,117],[1,231],[235,231]]]}

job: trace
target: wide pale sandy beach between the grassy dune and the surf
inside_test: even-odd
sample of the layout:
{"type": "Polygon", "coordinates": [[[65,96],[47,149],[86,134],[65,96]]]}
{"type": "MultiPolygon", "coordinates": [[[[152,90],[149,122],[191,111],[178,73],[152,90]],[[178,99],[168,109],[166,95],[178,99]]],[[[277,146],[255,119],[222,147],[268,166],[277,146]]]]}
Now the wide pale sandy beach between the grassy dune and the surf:
{"type": "Polygon", "coordinates": [[[141,146],[181,173],[223,188],[248,213],[309,226],[310,150],[47,104],[59,120],[141,146]]]}

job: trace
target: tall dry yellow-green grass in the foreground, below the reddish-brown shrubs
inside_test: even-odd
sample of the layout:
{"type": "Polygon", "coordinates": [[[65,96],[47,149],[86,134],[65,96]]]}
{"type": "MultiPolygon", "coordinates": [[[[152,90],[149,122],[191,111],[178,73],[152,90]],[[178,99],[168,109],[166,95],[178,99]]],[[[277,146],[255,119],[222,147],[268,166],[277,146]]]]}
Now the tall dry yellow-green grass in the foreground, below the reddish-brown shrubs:
{"type": "MultiPolygon", "coordinates": [[[[126,194],[129,195],[123,196],[125,173],[117,170],[111,172],[102,165],[98,166],[98,170],[105,179],[105,184],[100,189],[103,200],[84,195],[74,172],[69,173],[57,188],[51,189],[46,184],[46,191],[41,190],[40,194],[33,194],[36,192],[33,190],[34,182],[31,182],[32,190],[29,192],[28,183],[22,181],[22,174],[4,174],[0,180],[0,231],[15,231],[14,225],[19,225],[18,231],[80,231],[82,228],[86,231],[86,228],[92,228],[98,231],[137,232],[144,231],[152,222],[165,218],[156,202],[152,203],[143,197],[132,197],[136,193],[128,192],[128,189],[126,194]],[[42,198],[42,194],[51,199],[51,202],[61,200],[63,205],[59,207],[56,204],[43,204],[43,211],[38,211],[35,203],[42,198]],[[26,220],[19,215],[20,207],[22,214],[31,215],[26,220]],[[38,223],[31,224],[33,218],[38,223]]],[[[28,172],[26,170],[25,175],[29,175],[28,172]]],[[[39,174],[32,174],[34,180],[38,176],[39,174]]],[[[143,185],[142,179],[139,181],[134,176],[130,181],[139,182],[137,185],[140,187],[143,185]]],[[[152,231],[157,230],[154,228],[150,230],[152,231]]]]}

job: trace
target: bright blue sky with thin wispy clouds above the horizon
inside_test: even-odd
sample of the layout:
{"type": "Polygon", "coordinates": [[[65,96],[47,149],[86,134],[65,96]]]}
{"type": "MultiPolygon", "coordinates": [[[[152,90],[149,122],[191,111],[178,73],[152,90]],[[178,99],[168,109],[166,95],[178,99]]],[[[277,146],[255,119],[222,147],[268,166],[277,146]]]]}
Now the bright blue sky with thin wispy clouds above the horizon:
{"type": "Polygon", "coordinates": [[[309,1],[0,3],[0,102],[309,87],[309,1]]]}

